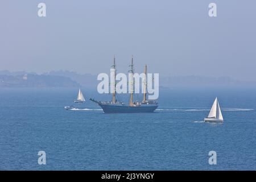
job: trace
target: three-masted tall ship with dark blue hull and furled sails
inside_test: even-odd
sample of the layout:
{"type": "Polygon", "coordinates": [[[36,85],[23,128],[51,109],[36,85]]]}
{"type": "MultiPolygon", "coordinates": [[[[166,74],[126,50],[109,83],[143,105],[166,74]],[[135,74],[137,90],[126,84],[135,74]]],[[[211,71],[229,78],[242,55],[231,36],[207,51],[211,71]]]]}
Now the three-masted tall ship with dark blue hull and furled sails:
{"type": "MultiPolygon", "coordinates": [[[[133,78],[134,74],[134,64],[133,57],[131,58],[131,65],[129,65],[130,77],[133,78]]],[[[116,65],[115,65],[115,57],[114,64],[112,66],[114,69],[114,91],[112,93],[112,101],[96,101],[93,98],[90,98],[91,101],[96,102],[104,111],[104,113],[152,113],[158,107],[158,102],[155,100],[147,100],[147,79],[144,79],[143,82],[143,100],[142,101],[134,101],[134,82],[131,81],[130,85],[130,100],[129,103],[120,102],[116,99],[116,65]]],[[[144,68],[144,74],[147,76],[147,65],[144,68]]]]}

